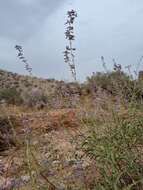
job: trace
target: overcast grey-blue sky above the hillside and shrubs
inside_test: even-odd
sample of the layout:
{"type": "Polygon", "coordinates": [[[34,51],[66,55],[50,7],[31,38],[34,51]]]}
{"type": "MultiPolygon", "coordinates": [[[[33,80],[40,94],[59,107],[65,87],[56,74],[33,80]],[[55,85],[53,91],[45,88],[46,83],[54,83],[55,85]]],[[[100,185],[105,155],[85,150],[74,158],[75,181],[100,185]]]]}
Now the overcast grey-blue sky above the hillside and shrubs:
{"type": "MultiPolygon", "coordinates": [[[[33,73],[44,78],[70,80],[63,61],[66,12],[78,12],[76,65],[78,79],[103,70],[101,56],[136,68],[143,55],[142,0],[1,0],[0,68],[26,74],[14,46],[22,45],[33,73]]],[[[142,63],[143,64],[143,63],[142,63]]],[[[143,69],[143,66],[141,66],[143,69]]]]}

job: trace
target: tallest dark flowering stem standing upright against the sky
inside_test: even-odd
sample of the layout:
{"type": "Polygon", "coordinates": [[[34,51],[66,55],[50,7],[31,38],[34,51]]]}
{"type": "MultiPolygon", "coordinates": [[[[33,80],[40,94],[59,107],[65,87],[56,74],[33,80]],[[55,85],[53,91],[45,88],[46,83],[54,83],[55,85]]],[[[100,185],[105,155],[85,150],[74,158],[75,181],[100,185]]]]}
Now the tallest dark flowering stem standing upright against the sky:
{"type": "Polygon", "coordinates": [[[74,52],[76,51],[76,48],[73,47],[73,41],[75,40],[74,35],[74,21],[77,17],[77,13],[74,10],[67,12],[67,21],[65,23],[66,25],[66,32],[65,37],[68,40],[68,45],[66,46],[66,49],[64,51],[64,61],[65,63],[68,63],[72,77],[76,81],[76,68],[75,68],[75,55],[74,52]]]}

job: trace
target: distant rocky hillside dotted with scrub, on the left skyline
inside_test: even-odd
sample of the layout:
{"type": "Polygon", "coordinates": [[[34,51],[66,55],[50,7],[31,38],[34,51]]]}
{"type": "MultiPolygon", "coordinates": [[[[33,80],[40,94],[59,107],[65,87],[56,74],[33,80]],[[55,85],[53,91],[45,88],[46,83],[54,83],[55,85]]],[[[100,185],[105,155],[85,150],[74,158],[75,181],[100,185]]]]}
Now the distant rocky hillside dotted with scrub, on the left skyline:
{"type": "MultiPolygon", "coordinates": [[[[23,76],[4,70],[0,70],[0,89],[1,91],[4,90],[0,100],[8,99],[10,103],[14,102],[15,104],[18,97],[20,97],[18,102],[24,102],[24,104],[30,106],[37,105],[37,103],[47,105],[48,101],[50,106],[51,104],[53,106],[53,102],[56,102],[57,98],[59,101],[59,97],[71,98],[80,94],[80,87],[76,83],[23,76]],[[11,101],[11,97],[16,101],[11,101]]],[[[59,104],[59,102],[56,104],[59,104]]]]}

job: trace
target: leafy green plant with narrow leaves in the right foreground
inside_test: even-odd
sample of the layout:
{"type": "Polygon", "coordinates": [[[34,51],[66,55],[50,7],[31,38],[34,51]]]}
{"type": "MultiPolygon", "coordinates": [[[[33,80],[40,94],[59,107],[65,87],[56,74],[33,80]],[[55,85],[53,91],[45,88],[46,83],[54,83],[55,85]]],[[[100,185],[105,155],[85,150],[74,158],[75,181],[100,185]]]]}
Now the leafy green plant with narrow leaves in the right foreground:
{"type": "Polygon", "coordinates": [[[102,125],[103,132],[99,134],[94,127],[83,144],[86,154],[96,160],[99,172],[94,189],[141,190],[143,186],[141,113],[137,110],[133,112],[129,110],[126,116],[113,113],[113,120],[102,125]]]}

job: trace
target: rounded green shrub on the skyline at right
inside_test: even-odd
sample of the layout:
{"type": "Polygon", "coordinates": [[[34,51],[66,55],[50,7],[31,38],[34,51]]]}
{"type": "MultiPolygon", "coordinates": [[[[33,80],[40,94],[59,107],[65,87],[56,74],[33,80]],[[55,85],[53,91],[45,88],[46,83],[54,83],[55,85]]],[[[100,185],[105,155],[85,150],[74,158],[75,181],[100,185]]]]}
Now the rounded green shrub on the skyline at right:
{"type": "Polygon", "coordinates": [[[87,78],[86,88],[89,92],[96,91],[99,87],[128,102],[143,100],[143,82],[133,80],[124,72],[97,73],[87,78]]]}

